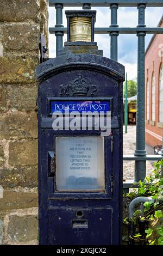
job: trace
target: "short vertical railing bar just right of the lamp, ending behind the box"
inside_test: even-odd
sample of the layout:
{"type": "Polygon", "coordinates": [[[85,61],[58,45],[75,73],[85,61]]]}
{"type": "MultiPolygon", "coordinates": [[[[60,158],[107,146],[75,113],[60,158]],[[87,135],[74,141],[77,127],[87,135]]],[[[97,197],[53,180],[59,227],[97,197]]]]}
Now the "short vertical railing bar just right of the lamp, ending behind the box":
{"type": "MultiPolygon", "coordinates": [[[[111,4],[111,25],[110,27],[118,27],[117,25],[117,9],[118,4],[111,4]]],[[[110,59],[113,59],[117,62],[118,59],[118,32],[110,33],[110,59]]]]}

